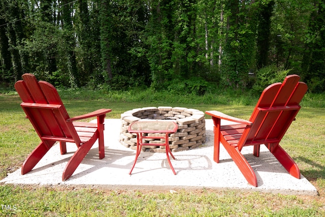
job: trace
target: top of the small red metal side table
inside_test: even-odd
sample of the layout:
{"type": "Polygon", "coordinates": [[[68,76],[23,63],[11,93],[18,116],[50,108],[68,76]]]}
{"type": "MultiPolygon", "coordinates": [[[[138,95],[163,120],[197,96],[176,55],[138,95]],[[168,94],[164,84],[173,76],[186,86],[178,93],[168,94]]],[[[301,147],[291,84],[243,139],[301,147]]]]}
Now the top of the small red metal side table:
{"type": "Polygon", "coordinates": [[[141,119],[128,126],[129,133],[175,133],[177,123],[173,120],[141,119]]]}

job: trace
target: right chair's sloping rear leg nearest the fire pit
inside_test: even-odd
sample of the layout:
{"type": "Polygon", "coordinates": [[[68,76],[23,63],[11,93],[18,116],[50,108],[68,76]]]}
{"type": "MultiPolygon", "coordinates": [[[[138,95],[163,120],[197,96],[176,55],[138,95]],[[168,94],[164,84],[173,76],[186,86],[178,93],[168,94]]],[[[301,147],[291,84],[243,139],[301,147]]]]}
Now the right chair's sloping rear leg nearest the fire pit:
{"type": "Polygon", "coordinates": [[[244,158],[243,154],[238,150],[238,148],[232,147],[229,144],[223,146],[228,151],[230,157],[233,159],[248,183],[254,187],[257,187],[256,175],[247,160],[244,158]]]}

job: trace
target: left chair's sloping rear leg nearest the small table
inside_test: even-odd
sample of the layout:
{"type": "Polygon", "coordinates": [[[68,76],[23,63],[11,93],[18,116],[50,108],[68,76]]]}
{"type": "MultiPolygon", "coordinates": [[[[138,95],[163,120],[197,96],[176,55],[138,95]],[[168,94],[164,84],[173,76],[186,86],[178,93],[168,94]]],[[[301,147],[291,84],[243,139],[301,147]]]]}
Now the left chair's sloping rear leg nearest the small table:
{"type": "Polygon", "coordinates": [[[79,164],[82,162],[82,160],[85,158],[86,154],[89,152],[90,148],[96,141],[97,137],[92,137],[88,142],[82,144],[78,150],[74,153],[74,155],[69,160],[66,168],[63,170],[62,174],[62,181],[67,180],[72,176],[72,174],[75,172],[79,164]]]}

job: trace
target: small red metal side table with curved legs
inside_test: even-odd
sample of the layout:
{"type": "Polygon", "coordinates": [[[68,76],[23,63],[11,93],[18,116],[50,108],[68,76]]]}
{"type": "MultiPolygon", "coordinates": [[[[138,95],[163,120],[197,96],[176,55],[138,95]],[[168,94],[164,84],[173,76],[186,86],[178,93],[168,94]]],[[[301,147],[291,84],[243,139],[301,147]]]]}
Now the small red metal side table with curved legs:
{"type": "Polygon", "coordinates": [[[142,145],[157,145],[153,143],[143,143],[143,139],[165,139],[165,144],[159,144],[159,145],[166,146],[166,155],[167,155],[169,166],[171,167],[174,175],[176,175],[174,167],[169,158],[169,154],[170,154],[172,158],[175,159],[169,147],[169,134],[175,133],[177,129],[178,129],[177,123],[172,120],[141,119],[131,123],[131,125],[128,126],[127,131],[129,133],[137,134],[137,153],[136,153],[136,159],[134,161],[134,164],[128,174],[131,175],[132,170],[137,163],[137,159],[140,155],[142,145]],[[143,136],[144,133],[165,134],[165,136],[143,136]]]}

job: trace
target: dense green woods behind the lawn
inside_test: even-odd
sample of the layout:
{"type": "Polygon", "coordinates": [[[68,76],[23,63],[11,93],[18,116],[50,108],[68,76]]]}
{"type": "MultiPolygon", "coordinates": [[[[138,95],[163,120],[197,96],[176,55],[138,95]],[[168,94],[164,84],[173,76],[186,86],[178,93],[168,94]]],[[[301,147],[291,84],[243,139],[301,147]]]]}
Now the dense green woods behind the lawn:
{"type": "Polygon", "coordinates": [[[0,83],[325,91],[323,0],[0,0],[0,83]]]}

